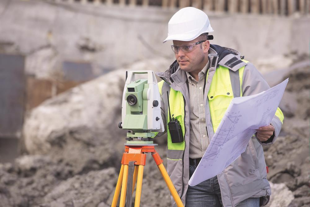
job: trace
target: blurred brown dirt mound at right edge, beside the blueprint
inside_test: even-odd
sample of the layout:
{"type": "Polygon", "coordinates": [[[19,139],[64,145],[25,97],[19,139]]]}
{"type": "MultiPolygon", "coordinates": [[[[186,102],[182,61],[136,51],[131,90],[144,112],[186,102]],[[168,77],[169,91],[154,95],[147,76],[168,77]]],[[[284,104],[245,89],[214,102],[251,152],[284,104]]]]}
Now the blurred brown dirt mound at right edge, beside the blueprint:
{"type": "Polygon", "coordinates": [[[310,70],[309,66],[291,70],[280,108],[284,122],[275,144],[264,146],[269,167],[268,180],[285,183],[295,199],[289,206],[310,205],[310,70]]]}

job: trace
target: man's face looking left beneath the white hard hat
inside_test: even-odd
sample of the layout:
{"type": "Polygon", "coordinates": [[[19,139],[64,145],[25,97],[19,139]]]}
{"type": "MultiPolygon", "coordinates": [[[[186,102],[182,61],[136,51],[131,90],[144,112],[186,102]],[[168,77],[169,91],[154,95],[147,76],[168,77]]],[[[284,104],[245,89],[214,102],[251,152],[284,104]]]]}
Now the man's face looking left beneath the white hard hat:
{"type": "MultiPolygon", "coordinates": [[[[206,37],[203,36],[203,38],[198,37],[191,41],[173,40],[173,44],[182,46],[188,43],[197,43],[205,39],[206,37]]],[[[179,63],[180,69],[187,72],[200,72],[207,63],[206,59],[208,58],[209,47],[210,43],[206,40],[205,42],[195,45],[191,52],[185,53],[181,49],[182,47],[179,48],[179,52],[175,53],[175,59],[179,63]]]]}

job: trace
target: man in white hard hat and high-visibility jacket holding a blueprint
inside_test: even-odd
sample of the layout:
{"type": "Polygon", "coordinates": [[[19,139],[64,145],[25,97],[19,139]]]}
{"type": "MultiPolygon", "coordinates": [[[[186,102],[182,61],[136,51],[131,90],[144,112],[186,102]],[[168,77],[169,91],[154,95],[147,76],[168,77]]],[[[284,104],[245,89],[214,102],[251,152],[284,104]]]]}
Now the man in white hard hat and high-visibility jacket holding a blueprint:
{"type": "Polygon", "coordinates": [[[164,43],[173,41],[176,60],[166,72],[157,73],[163,79],[158,87],[168,137],[167,171],[186,206],[266,205],[271,190],[261,145],[272,144],[280,132],[283,114],[279,108],[271,124],[257,129],[246,151],[222,173],[188,186],[232,98],[269,88],[239,52],[210,45],[209,32],[213,29],[208,16],[193,7],[176,12],[168,24],[164,43]],[[179,121],[184,140],[171,135],[170,115],[179,121]]]}

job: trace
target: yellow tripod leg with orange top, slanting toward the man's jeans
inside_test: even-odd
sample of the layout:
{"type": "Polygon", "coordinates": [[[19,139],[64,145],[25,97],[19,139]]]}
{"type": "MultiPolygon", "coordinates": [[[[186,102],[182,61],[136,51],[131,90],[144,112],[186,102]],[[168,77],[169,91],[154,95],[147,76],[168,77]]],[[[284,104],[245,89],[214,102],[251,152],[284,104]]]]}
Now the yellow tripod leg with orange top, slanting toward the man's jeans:
{"type": "Polygon", "coordinates": [[[152,156],[157,164],[157,167],[159,169],[159,171],[162,173],[162,177],[164,178],[167,187],[169,188],[169,191],[173,197],[173,199],[175,200],[175,203],[178,207],[184,207],[177,191],[175,190],[175,187],[164,167],[164,165],[162,164],[162,159],[160,158],[159,154],[156,152],[156,150],[154,150],[154,152],[152,153],[152,156]]]}

